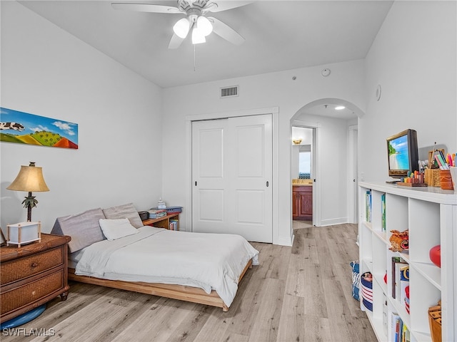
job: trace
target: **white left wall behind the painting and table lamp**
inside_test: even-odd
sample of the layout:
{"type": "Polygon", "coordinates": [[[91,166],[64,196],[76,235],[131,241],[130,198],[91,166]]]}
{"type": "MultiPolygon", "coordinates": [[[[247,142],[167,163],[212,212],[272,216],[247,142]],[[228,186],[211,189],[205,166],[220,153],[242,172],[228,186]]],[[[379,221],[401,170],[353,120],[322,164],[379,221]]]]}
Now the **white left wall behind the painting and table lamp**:
{"type": "Polygon", "coordinates": [[[32,220],[161,196],[161,88],[16,1],[1,1],[1,106],[79,124],[79,149],[0,142],[1,227],[26,220],[21,165],[43,167],[32,220]]]}

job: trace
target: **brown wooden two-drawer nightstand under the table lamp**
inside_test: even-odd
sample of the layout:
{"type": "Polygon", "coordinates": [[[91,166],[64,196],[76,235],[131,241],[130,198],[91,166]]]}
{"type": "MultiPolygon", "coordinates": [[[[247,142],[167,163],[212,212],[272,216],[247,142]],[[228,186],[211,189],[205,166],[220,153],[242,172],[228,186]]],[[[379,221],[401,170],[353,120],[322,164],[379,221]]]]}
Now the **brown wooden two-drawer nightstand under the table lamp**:
{"type": "Polygon", "coordinates": [[[0,322],[68,295],[71,237],[41,234],[41,242],[0,248],[0,322]]]}

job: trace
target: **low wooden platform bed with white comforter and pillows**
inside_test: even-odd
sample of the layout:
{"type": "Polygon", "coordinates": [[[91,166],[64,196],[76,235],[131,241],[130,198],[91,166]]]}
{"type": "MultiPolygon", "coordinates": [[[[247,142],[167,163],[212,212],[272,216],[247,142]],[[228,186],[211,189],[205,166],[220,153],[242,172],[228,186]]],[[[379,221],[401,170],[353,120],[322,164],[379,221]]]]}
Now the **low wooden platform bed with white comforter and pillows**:
{"type": "Polygon", "coordinates": [[[134,227],[125,214],[112,219],[103,210],[54,224],[54,233],[70,235],[76,244],[69,248],[69,280],[229,311],[239,281],[258,264],[258,251],[239,235],[175,232],[139,222],[134,227]]]}

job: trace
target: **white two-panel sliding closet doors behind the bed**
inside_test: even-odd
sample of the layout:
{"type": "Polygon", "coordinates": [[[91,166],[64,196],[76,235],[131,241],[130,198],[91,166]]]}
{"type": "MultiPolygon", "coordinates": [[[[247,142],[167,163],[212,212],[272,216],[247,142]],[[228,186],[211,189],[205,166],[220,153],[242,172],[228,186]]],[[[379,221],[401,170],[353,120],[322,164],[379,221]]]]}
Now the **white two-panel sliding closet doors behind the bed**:
{"type": "Polygon", "coordinates": [[[192,123],[192,229],[273,242],[272,118],[192,123]]]}

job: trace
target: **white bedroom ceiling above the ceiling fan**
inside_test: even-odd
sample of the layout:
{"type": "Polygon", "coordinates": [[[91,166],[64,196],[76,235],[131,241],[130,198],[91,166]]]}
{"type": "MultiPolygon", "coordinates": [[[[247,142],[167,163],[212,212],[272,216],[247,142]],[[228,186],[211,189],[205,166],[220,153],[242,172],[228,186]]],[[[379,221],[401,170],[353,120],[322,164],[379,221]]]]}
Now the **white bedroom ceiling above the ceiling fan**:
{"type": "MultiPolygon", "coordinates": [[[[230,1],[230,0],[214,0],[230,1]]],[[[111,2],[177,6],[176,1],[19,1],[162,88],[365,58],[393,1],[252,1],[211,16],[246,41],[235,46],[211,33],[168,48],[181,14],[113,9],[111,2]],[[195,50],[194,50],[195,48],[195,50]]],[[[322,106],[306,113],[354,118],[322,106]]]]}

